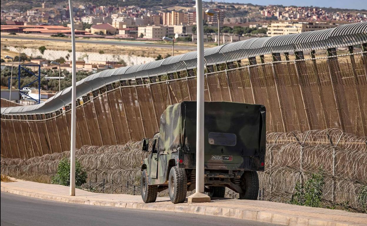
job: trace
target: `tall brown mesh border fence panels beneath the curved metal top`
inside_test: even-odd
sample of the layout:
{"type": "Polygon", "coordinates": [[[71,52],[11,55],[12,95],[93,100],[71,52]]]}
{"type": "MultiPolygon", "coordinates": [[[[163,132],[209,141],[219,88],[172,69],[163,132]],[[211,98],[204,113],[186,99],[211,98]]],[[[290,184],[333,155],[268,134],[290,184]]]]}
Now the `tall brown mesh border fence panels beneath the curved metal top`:
{"type": "MultiPolygon", "coordinates": [[[[265,105],[268,132],[339,128],[366,136],[366,53],[363,44],[207,66],[205,100],[265,105]]],[[[196,100],[195,70],[107,83],[77,100],[76,146],[152,137],[164,109],[184,100],[196,100]]],[[[1,155],[31,158],[68,150],[70,106],[46,114],[1,114],[1,155]]]]}

